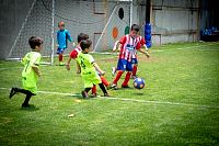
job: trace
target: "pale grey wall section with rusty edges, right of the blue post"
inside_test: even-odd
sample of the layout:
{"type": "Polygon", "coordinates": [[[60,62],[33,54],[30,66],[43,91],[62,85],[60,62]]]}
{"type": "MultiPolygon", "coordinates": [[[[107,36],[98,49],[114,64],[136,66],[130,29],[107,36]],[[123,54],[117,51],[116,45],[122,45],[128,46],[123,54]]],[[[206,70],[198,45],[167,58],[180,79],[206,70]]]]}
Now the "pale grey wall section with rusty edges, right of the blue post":
{"type": "Polygon", "coordinates": [[[199,36],[198,7],[198,0],[152,0],[153,44],[197,41],[199,36]]]}

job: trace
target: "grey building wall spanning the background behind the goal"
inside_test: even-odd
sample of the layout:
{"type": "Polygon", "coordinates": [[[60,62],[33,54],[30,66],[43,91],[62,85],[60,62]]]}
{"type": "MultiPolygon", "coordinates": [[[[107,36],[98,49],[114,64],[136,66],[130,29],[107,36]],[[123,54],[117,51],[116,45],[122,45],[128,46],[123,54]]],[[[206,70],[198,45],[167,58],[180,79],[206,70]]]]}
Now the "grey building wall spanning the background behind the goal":
{"type": "Polygon", "coordinates": [[[212,0],[2,0],[0,58],[23,57],[31,35],[44,38],[43,56],[54,55],[59,21],[74,42],[79,33],[88,33],[95,52],[111,49],[130,23],[141,26],[141,35],[150,23],[153,45],[196,42],[203,30],[217,32],[218,11],[212,0]]]}

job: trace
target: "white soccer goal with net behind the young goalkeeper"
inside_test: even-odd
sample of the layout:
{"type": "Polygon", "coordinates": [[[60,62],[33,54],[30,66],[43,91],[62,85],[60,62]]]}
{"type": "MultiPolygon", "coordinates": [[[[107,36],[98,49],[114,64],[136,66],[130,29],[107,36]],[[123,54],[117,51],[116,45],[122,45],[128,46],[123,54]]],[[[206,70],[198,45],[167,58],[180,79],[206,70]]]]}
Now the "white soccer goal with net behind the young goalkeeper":
{"type": "MultiPolygon", "coordinates": [[[[20,59],[30,52],[28,38],[33,35],[44,40],[42,55],[49,64],[56,56],[58,22],[65,22],[77,43],[79,33],[89,34],[94,52],[105,52],[128,33],[130,25],[129,0],[34,0],[26,19],[9,53],[9,58],[20,59]]],[[[68,43],[68,55],[72,49],[68,43]]]]}

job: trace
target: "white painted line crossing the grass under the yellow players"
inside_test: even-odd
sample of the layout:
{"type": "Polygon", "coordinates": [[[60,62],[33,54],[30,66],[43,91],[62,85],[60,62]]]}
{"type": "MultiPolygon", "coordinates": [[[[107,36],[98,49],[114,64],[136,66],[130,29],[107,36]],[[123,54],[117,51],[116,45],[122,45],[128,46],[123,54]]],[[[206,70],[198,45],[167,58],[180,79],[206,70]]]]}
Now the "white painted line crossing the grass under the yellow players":
{"type": "MultiPolygon", "coordinates": [[[[1,90],[10,90],[9,88],[0,88],[1,90]]],[[[74,93],[64,93],[64,92],[50,92],[50,91],[38,91],[42,94],[57,94],[57,96],[69,96],[69,97],[77,97],[80,94],[74,93]]],[[[138,103],[151,103],[151,104],[169,104],[169,105],[182,105],[182,106],[196,106],[196,108],[207,108],[207,109],[219,109],[219,106],[214,105],[205,105],[205,104],[192,104],[192,103],[180,103],[180,102],[169,102],[169,101],[152,101],[152,100],[137,100],[137,99],[125,99],[125,98],[117,98],[117,97],[101,97],[92,98],[92,100],[97,99],[105,99],[105,100],[118,100],[118,101],[127,101],[127,102],[138,102],[138,103]]]]}

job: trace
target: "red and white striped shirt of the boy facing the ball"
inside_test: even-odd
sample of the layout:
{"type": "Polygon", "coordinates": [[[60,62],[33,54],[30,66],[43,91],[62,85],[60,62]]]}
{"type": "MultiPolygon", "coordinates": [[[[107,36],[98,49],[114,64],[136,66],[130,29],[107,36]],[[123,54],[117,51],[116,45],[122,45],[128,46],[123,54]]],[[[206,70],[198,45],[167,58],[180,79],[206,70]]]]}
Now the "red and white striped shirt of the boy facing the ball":
{"type": "Polygon", "coordinates": [[[124,35],[119,40],[119,43],[122,44],[119,59],[126,59],[128,61],[131,61],[135,50],[141,47],[138,37],[131,37],[129,34],[124,35]]]}

